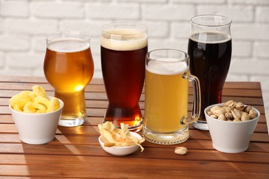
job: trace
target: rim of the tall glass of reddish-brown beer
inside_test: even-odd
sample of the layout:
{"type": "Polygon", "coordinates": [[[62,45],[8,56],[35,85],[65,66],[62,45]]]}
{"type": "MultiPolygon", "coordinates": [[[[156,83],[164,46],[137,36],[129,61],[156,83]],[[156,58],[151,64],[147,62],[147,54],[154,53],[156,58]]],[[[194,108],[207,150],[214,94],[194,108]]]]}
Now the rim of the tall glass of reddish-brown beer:
{"type": "Polygon", "coordinates": [[[112,23],[107,23],[101,27],[102,33],[106,33],[106,34],[110,34],[114,36],[131,36],[131,35],[137,35],[137,34],[144,34],[144,33],[147,33],[147,31],[148,31],[148,28],[146,27],[146,25],[143,25],[141,23],[132,23],[132,22],[112,22],[112,23]],[[126,28],[139,29],[141,30],[141,32],[131,33],[131,34],[114,34],[108,31],[112,29],[117,29],[117,28],[108,28],[112,26],[117,27],[117,28],[126,27],[126,28]]]}

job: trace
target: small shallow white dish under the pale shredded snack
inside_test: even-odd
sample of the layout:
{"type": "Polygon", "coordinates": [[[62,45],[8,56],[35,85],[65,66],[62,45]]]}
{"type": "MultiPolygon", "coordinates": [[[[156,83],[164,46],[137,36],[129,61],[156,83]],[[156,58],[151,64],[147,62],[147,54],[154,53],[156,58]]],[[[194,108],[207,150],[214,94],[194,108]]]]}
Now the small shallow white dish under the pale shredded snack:
{"type": "MultiPolygon", "coordinates": [[[[133,131],[130,131],[130,136],[138,138],[139,140],[142,138],[139,134],[133,131]]],[[[134,153],[139,148],[138,145],[132,145],[126,147],[118,147],[118,146],[105,147],[103,144],[103,136],[99,136],[98,140],[103,150],[114,156],[126,156],[128,154],[134,153]]]]}

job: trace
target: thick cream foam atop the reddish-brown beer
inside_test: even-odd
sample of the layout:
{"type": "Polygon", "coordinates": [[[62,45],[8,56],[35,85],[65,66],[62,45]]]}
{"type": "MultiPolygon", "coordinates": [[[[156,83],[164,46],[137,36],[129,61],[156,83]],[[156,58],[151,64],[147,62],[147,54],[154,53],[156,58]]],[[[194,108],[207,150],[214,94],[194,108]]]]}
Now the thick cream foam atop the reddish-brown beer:
{"type": "Polygon", "coordinates": [[[101,36],[101,45],[110,50],[138,50],[148,45],[148,36],[136,29],[110,30],[101,36]]]}

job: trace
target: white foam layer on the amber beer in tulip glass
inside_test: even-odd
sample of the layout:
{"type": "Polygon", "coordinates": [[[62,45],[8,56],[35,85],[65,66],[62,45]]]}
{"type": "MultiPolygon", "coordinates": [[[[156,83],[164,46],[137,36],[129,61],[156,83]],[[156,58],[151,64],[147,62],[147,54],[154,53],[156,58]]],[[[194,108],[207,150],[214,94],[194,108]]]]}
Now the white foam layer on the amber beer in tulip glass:
{"type": "Polygon", "coordinates": [[[88,42],[76,38],[56,39],[48,44],[48,49],[54,52],[81,52],[88,48],[90,48],[88,42]]]}

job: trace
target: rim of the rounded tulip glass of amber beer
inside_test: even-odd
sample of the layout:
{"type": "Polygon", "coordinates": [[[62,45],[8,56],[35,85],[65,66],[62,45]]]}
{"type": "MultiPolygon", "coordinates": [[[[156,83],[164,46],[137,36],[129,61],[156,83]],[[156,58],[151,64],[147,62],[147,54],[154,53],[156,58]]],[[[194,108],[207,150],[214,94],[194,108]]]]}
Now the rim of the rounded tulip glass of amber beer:
{"type": "Polygon", "coordinates": [[[47,34],[46,40],[52,42],[59,41],[59,39],[80,39],[81,41],[89,41],[90,37],[91,37],[90,34],[78,30],[61,30],[59,32],[47,34]]]}

